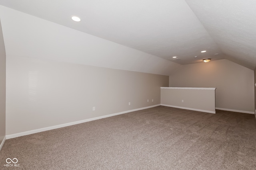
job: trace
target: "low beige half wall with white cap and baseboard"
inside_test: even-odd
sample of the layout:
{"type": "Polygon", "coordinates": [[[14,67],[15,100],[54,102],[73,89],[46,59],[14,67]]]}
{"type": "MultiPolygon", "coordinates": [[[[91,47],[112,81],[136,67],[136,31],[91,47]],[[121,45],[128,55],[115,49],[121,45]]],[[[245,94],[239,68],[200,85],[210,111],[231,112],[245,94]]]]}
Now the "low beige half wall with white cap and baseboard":
{"type": "Polygon", "coordinates": [[[161,88],[161,105],[215,113],[215,89],[161,88]]]}

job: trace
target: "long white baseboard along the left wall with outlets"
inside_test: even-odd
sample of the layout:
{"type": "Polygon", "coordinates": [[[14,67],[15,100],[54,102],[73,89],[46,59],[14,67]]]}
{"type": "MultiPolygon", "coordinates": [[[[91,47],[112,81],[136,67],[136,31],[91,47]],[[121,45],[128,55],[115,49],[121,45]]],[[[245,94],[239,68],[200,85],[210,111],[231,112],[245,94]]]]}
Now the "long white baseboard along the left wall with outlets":
{"type": "Polygon", "coordinates": [[[80,120],[80,121],[74,121],[74,122],[70,122],[70,123],[64,123],[64,124],[61,124],[61,125],[44,127],[44,128],[41,128],[41,129],[34,129],[34,130],[31,130],[31,131],[15,133],[15,134],[12,134],[12,135],[6,135],[6,139],[11,139],[11,138],[15,138],[15,137],[30,135],[30,134],[33,134],[33,133],[48,131],[48,130],[52,130],[52,129],[58,129],[58,128],[61,128],[61,127],[76,125],[76,124],[79,124],[79,123],[85,123],[85,122],[88,122],[88,121],[93,121],[93,120],[97,120],[97,119],[102,119],[102,118],[106,118],[106,117],[111,117],[111,116],[115,116],[115,115],[129,113],[129,112],[132,112],[132,111],[148,109],[148,108],[156,107],[156,106],[160,106],[160,104],[154,105],[154,106],[142,107],[142,108],[133,109],[133,110],[128,110],[128,111],[122,111],[122,112],[119,112],[119,113],[114,113],[114,114],[110,114],[110,115],[104,115],[104,116],[100,116],[100,117],[94,117],[94,118],[90,118],[90,119],[84,119],[84,120],[80,120]]]}

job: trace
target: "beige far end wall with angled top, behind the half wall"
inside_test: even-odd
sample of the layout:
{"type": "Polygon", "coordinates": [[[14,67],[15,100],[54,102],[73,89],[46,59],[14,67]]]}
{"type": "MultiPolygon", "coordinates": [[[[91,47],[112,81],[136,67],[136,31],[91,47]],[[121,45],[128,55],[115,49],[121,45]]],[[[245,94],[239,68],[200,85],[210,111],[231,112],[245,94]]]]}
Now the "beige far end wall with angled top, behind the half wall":
{"type": "Polygon", "coordinates": [[[254,112],[254,71],[226,59],[181,66],[170,87],[214,87],[216,107],[254,112]]]}

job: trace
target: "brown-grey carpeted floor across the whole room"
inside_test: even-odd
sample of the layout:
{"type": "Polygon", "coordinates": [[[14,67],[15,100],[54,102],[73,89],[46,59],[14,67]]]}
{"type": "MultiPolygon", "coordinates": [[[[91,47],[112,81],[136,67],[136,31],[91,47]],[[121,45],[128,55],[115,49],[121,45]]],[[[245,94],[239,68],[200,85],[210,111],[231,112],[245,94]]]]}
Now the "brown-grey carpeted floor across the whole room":
{"type": "Polygon", "coordinates": [[[0,169],[255,170],[256,120],[158,106],[8,139],[0,169]]]}

